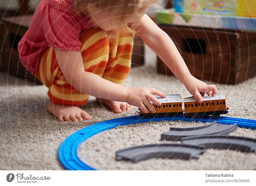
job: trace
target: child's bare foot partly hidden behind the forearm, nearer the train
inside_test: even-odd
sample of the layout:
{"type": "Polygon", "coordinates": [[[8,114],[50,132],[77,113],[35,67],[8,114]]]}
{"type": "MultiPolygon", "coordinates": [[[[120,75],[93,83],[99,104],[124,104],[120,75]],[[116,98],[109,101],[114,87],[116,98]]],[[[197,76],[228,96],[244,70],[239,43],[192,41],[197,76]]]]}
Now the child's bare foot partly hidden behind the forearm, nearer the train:
{"type": "Polygon", "coordinates": [[[108,106],[115,113],[121,113],[123,111],[130,110],[132,108],[132,105],[129,105],[126,102],[111,101],[108,99],[101,99],[101,98],[97,98],[97,99],[100,104],[104,104],[108,106]]]}

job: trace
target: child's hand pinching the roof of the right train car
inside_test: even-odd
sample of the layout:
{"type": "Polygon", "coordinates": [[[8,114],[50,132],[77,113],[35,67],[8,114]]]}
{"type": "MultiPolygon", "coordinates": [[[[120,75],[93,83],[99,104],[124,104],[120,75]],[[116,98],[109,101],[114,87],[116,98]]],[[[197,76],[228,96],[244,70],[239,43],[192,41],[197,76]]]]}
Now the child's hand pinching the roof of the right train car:
{"type": "Polygon", "coordinates": [[[207,85],[205,82],[200,81],[191,75],[184,81],[186,89],[192,94],[199,103],[203,102],[204,94],[215,96],[218,92],[216,85],[207,85]]]}

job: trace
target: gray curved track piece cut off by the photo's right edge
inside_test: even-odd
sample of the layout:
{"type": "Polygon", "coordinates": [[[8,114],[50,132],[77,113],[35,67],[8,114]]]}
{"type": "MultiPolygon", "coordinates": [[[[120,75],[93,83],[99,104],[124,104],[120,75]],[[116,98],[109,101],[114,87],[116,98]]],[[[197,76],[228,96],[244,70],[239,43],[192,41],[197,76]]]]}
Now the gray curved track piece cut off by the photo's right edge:
{"type": "Polygon", "coordinates": [[[232,149],[244,152],[256,151],[256,139],[242,136],[211,135],[181,138],[183,144],[202,145],[206,149],[232,149]]]}

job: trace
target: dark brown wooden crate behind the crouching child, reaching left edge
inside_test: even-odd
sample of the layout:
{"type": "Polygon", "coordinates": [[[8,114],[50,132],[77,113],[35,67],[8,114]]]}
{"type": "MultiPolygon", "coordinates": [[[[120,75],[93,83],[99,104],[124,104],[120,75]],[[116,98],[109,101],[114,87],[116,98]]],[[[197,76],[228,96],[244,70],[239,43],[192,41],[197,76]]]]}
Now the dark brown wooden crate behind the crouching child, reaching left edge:
{"type": "MultiPolygon", "coordinates": [[[[3,19],[0,25],[0,41],[3,41],[4,36],[6,36],[6,42],[3,49],[4,55],[1,58],[0,70],[12,75],[17,75],[28,81],[40,83],[40,81],[29,71],[26,71],[25,67],[21,64],[18,52],[18,43],[27,32],[31,19],[32,14],[3,19]],[[8,35],[5,33],[6,31],[8,31],[8,35]]],[[[138,35],[135,35],[133,43],[132,66],[143,65],[144,43],[138,35]]]]}

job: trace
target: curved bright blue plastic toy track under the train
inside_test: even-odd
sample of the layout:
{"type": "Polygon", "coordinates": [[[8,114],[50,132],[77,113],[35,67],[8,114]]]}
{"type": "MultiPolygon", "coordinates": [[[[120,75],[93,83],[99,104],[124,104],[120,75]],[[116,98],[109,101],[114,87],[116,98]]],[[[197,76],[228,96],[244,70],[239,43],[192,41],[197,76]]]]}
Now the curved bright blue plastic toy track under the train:
{"type": "MultiPolygon", "coordinates": [[[[77,149],[81,143],[87,140],[89,137],[94,136],[102,131],[109,130],[111,128],[115,128],[117,126],[124,126],[135,123],[142,123],[148,121],[201,121],[201,122],[213,122],[217,121],[217,123],[221,124],[234,124],[236,123],[238,127],[241,128],[252,128],[256,129],[256,120],[247,120],[241,118],[229,118],[229,117],[219,117],[218,119],[213,119],[210,116],[205,116],[201,119],[191,119],[184,118],[183,116],[178,116],[175,118],[164,118],[164,117],[155,117],[155,118],[141,118],[140,116],[128,116],[124,118],[117,118],[107,121],[102,121],[99,123],[95,123],[88,127],[85,127],[71,136],[69,136],[59,148],[59,159],[64,167],[68,170],[96,170],[93,167],[86,165],[78,156],[77,149]]],[[[159,136],[160,138],[160,136],[159,136]]]]}

